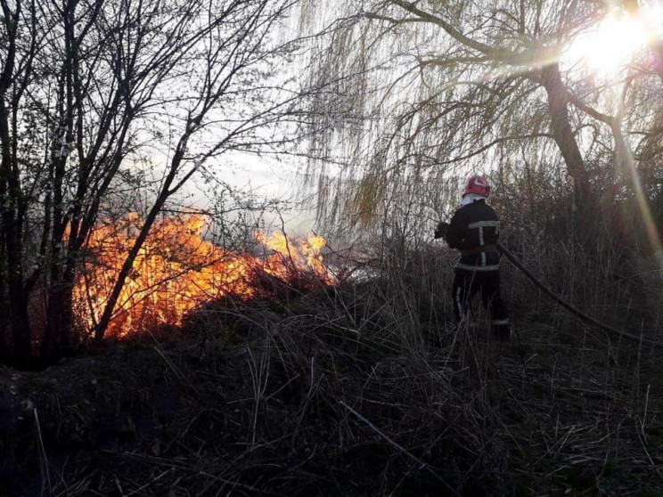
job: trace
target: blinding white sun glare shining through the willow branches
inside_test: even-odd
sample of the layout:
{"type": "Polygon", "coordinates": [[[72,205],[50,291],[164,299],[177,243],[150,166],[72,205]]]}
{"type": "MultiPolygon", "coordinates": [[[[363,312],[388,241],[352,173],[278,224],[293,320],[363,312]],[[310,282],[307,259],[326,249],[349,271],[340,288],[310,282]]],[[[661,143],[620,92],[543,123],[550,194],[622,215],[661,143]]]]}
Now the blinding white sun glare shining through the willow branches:
{"type": "Polygon", "coordinates": [[[663,34],[660,4],[643,8],[632,17],[610,12],[593,30],[577,37],[565,54],[571,64],[582,64],[599,77],[614,77],[634,56],[663,34]]]}

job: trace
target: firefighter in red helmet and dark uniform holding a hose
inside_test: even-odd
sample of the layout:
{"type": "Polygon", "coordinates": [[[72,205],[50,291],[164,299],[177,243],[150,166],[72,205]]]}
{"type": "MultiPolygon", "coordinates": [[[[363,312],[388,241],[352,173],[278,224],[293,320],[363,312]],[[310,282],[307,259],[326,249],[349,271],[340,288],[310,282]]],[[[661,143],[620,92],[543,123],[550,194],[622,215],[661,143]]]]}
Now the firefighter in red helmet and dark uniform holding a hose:
{"type": "Polygon", "coordinates": [[[477,292],[487,306],[495,338],[511,338],[509,310],[500,295],[500,254],[495,243],[500,222],[495,210],[487,205],[490,184],[480,175],[468,180],[462,193],[461,206],[451,223],[441,222],[435,238],[443,238],[451,248],[461,251],[454,270],[452,297],[454,318],[460,322],[477,292]]]}

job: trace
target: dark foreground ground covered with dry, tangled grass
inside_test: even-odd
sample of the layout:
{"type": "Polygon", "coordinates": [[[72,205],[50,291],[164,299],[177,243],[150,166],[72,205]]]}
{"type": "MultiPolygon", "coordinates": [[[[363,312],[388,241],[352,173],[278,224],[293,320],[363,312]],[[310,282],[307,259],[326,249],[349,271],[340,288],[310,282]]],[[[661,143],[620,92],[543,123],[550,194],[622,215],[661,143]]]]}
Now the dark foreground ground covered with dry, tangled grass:
{"type": "Polygon", "coordinates": [[[0,494],[663,495],[660,353],[521,321],[323,292],[4,368],[0,494]]]}

